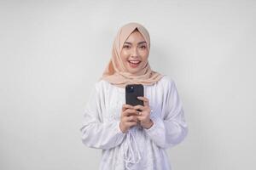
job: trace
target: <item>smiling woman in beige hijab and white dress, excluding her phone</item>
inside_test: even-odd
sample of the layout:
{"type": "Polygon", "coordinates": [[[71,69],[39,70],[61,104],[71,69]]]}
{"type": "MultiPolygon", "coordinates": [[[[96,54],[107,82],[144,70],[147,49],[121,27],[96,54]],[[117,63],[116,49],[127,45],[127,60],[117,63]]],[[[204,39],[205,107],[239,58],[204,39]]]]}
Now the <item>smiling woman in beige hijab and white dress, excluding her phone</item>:
{"type": "Polygon", "coordinates": [[[84,111],[85,145],[102,149],[100,169],[169,170],[166,149],[188,133],[172,78],[152,71],[150,37],[140,24],[119,29],[112,58],[84,111]],[[125,105],[125,85],[143,84],[142,105],[125,105]],[[140,111],[137,111],[140,110],[140,111]]]}

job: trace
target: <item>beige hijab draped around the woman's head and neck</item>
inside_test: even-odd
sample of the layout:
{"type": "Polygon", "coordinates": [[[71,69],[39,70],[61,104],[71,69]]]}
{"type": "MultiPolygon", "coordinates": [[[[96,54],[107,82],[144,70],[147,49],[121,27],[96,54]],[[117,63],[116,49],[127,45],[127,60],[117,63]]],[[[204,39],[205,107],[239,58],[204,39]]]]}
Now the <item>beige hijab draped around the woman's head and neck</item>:
{"type": "Polygon", "coordinates": [[[129,23],[122,26],[113,41],[112,58],[103,72],[101,80],[106,80],[119,88],[125,88],[127,84],[151,85],[154,84],[154,82],[158,82],[160,78],[163,77],[160,73],[152,71],[149,63],[144,65],[143,69],[137,72],[136,75],[131,74],[125,69],[125,65],[120,58],[120,52],[125,40],[136,28],[147,42],[149,51],[150,37],[146,28],[138,23],[129,23]]]}

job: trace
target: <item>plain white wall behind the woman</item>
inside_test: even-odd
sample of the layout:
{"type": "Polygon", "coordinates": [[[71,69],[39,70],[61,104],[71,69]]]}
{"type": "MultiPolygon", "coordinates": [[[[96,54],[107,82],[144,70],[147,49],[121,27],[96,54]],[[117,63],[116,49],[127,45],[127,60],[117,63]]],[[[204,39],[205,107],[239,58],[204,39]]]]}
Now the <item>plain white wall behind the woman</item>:
{"type": "Polygon", "coordinates": [[[120,26],[151,36],[149,63],[177,83],[189,134],[174,170],[256,169],[255,1],[0,1],[0,169],[97,169],[84,106],[120,26]]]}

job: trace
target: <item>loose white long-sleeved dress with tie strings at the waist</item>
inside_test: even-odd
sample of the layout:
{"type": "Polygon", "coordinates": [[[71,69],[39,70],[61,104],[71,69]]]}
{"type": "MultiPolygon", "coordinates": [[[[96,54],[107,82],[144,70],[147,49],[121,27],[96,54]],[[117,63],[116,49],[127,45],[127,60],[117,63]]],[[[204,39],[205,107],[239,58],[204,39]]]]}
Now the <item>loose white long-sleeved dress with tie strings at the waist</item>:
{"type": "Polygon", "coordinates": [[[122,133],[119,119],[125,88],[104,80],[96,82],[80,131],[86,146],[102,149],[101,170],[172,169],[166,149],[180,143],[188,133],[175,82],[164,76],[154,85],[144,85],[144,96],[154,125],[149,129],[137,125],[122,133]]]}

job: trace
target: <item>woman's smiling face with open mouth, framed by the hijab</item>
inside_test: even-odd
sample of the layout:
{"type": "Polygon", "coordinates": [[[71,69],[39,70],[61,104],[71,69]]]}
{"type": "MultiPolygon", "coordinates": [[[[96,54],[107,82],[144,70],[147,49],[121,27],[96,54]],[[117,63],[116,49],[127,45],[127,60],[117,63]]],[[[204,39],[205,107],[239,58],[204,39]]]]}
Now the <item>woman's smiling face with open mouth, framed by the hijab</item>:
{"type": "Polygon", "coordinates": [[[139,31],[133,31],[126,39],[120,55],[127,71],[134,75],[148,63],[147,42],[139,31]]]}

